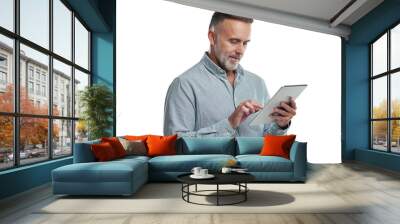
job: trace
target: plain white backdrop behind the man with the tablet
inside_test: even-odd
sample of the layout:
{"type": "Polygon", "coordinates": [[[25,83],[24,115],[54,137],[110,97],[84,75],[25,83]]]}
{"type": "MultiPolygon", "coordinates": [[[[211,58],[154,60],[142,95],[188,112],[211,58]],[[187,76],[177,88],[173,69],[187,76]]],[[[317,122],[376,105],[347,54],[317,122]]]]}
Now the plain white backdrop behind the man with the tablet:
{"type": "MultiPolygon", "coordinates": [[[[164,0],[117,1],[117,135],[163,134],[169,84],[208,50],[213,12],[164,0]]],[[[263,77],[270,95],[308,84],[289,133],[308,143],[308,161],[341,162],[341,41],[263,21],[241,65],[263,77]]]]}

